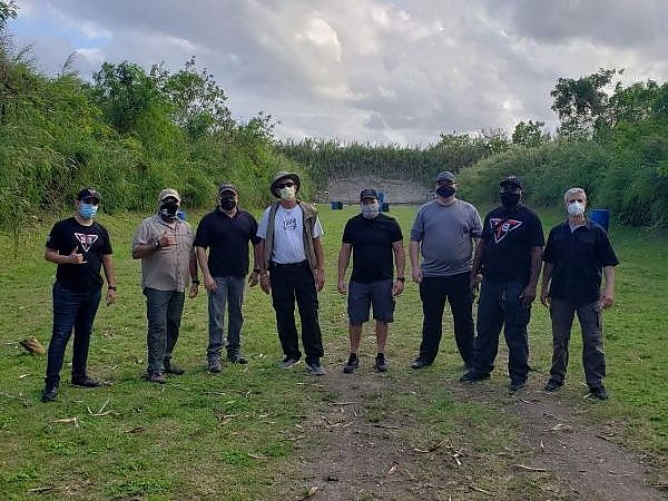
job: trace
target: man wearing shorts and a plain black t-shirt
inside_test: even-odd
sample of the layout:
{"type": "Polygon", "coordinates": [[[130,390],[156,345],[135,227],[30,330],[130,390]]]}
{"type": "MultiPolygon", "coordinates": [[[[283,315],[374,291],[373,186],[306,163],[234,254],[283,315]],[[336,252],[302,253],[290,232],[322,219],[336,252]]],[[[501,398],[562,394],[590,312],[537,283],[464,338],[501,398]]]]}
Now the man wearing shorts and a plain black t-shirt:
{"type": "Polygon", "coordinates": [[[369,321],[369,308],[373,305],[376,321],[377,355],[375,369],[387,371],[385,341],[387,324],[394,315],[394,296],[404,287],[405,253],[403,236],[396,220],[380,214],[379,196],[375,189],[364,189],[360,194],[361,214],[352,217],[343,230],[343,243],[338,253],[338,285],[341,294],[348,294],[348,318],[351,356],[343,367],[350,374],[360,365],[360,340],[362,324],[369,321]],[[345,283],[351,250],[353,253],[353,273],[350,291],[345,283]],[[396,279],[393,279],[392,257],[396,265],[396,279]]]}

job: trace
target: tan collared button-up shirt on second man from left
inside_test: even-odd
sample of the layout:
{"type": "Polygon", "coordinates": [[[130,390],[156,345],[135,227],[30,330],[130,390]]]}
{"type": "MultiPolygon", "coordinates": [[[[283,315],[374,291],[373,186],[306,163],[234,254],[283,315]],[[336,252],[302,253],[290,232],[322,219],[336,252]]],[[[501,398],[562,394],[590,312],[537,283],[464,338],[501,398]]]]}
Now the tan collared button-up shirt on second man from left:
{"type": "Polygon", "coordinates": [[[154,214],[144,219],[135,232],[132,250],[139,245],[155,245],[165,233],[176,236],[178,245],[160,247],[141,259],[141,286],[184,292],[190,279],[190,259],[195,258],[195,234],[188,223],[177,219],[171,227],[154,214]]]}

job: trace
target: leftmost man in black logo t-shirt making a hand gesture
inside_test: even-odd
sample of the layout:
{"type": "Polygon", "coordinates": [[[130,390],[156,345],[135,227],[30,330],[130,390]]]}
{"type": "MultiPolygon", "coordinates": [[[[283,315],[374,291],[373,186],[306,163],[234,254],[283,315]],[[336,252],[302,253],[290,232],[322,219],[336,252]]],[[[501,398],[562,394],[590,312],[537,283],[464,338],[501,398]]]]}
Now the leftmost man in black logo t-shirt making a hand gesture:
{"type": "Polygon", "coordinates": [[[65,348],[75,331],[72,352],[72,385],[96,387],[102,383],[87,373],[88,347],[92,323],[101,297],[102,278],[107,278],[107,305],[116,301],[116,276],[111,243],[107,229],[94,220],[100,205],[100,194],[84,188],[75,202],[72,217],[56,223],[45,250],[45,259],[56,263],[53,284],[53,331],[49,342],[47,376],[42,402],[58,395],[65,348]]]}

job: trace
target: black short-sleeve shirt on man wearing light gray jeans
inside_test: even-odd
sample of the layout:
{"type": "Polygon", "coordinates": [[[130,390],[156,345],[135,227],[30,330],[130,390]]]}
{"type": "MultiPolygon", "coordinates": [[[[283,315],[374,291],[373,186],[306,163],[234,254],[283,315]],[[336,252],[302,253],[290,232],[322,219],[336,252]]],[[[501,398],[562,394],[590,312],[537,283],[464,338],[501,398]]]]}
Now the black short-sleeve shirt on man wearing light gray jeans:
{"type": "Polygon", "coordinates": [[[244,209],[229,217],[216,208],[205,215],[197,226],[195,245],[209,248],[208,267],[212,276],[246,276],[248,274],[248,242],[259,243],[257,220],[244,209]]]}

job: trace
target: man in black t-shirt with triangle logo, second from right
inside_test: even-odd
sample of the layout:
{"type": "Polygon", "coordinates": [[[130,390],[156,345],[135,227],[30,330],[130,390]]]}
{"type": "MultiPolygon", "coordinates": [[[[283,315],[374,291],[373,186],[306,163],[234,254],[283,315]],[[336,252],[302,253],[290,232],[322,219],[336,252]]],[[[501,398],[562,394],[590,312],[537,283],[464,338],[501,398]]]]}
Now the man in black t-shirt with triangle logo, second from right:
{"type": "Polygon", "coordinates": [[[522,183],[517,176],[501,180],[501,206],[483,224],[473,259],[473,275],[482,274],[478,304],[478,337],[472,366],[460,381],[473,383],[490,377],[499,351],[501,326],[508,345],[510,391],[522,389],[529,373],[527,326],[540,274],[544,236],[538,216],[522,205],[522,183]]]}

